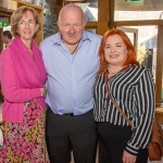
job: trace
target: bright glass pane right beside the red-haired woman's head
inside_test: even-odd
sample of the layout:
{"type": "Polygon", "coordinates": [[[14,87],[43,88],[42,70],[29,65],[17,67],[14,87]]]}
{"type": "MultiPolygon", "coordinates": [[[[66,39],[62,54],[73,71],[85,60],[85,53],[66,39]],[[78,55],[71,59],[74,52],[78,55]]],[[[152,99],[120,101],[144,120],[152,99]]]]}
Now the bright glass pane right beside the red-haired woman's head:
{"type": "MultiPolygon", "coordinates": [[[[155,77],[158,26],[125,26],[124,28],[137,29],[137,60],[141,65],[150,68],[155,77]]],[[[134,43],[134,33],[126,34],[134,43]]]]}

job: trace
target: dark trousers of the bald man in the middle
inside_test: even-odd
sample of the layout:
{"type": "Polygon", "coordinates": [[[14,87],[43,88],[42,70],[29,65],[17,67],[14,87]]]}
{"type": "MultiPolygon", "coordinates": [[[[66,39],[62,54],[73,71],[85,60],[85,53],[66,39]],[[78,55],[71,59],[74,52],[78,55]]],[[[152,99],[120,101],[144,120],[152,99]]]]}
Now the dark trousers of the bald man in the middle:
{"type": "Polygon", "coordinates": [[[97,130],[92,111],[83,115],[57,115],[47,110],[46,140],[51,163],[95,163],[97,130]]]}

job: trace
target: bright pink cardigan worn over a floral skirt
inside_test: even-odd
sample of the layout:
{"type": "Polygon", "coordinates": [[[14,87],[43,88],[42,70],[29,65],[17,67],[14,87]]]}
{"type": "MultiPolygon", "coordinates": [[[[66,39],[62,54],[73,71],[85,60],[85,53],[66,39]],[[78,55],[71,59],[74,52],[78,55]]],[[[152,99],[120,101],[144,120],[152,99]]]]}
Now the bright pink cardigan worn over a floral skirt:
{"type": "Polygon", "coordinates": [[[20,38],[13,39],[0,58],[0,79],[4,102],[2,117],[4,122],[22,123],[24,102],[37,98],[45,106],[40,88],[47,80],[47,74],[38,46],[33,43],[33,57],[20,38]]]}

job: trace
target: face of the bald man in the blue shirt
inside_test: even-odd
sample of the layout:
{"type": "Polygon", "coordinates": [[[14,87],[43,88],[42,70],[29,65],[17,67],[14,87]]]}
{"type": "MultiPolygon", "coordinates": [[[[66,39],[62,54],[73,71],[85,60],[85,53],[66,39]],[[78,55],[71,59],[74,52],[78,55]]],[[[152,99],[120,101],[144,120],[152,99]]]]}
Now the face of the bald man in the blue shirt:
{"type": "Polygon", "coordinates": [[[62,40],[67,45],[76,45],[83,36],[86,22],[80,12],[71,10],[66,14],[62,14],[58,25],[62,40]]]}

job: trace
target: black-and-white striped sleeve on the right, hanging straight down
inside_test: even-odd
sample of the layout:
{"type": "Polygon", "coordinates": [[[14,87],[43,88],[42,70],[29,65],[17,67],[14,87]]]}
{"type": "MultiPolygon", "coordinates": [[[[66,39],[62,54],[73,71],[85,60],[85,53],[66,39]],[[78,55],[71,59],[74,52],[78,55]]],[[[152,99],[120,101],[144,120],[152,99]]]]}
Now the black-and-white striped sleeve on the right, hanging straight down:
{"type": "Polygon", "coordinates": [[[126,151],[137,155],[139,149],[148,146],[155,109],[155,86],[152,73],[147,70],[141,75],[135,91],[136,112],[133,121],[133,136],[126,151]]]}

